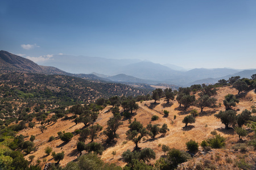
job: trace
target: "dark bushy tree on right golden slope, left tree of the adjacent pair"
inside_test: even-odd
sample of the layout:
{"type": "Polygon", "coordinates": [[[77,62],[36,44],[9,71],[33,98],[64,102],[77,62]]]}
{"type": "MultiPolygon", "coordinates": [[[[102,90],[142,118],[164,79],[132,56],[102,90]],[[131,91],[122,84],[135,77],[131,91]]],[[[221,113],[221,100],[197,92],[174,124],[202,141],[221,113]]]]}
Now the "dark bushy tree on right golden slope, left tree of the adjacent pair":
{"type": "Polygon", "coordinates": [[[229,125],[234,125],[237,122],[237,112],[233,110],[220,111],[218,114],[214,114],[216,118],[220,118],[222,124],[225,125],[225,129],[229,129],[229,125]]]}

